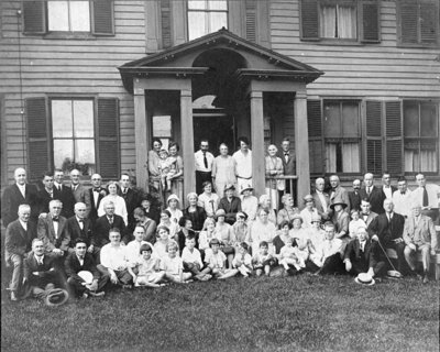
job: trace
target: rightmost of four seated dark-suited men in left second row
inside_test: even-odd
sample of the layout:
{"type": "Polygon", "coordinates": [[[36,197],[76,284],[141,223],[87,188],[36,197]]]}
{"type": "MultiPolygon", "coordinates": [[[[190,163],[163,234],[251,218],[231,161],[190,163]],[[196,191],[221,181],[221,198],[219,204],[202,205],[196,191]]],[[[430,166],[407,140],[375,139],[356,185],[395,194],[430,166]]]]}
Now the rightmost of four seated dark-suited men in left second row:
{"type": "Polygon", "coordinates": [[[106,213],[98,218],[95,223],[91,244],[98,248],[98,250],[102,249],[102,246],[109,243],[109,231],[112,228],[119,229],[120,233],[124,235],[124,244],[129,243],[132,239],[125,237],[125,223],[122,217],[114,213],[114,204],[111,200],[105,202],[103,211],[106,213]]]}

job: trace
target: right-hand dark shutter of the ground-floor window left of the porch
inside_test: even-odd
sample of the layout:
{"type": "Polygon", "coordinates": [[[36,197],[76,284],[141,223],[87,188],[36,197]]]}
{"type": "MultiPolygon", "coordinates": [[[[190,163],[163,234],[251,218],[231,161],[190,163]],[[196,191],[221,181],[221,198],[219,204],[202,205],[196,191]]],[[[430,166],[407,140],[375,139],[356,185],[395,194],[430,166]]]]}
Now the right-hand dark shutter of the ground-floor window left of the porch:
{"type": "Polygon", "coordinates": [[[99,173],[103,178],[117,178],[120,169],[118,99],[98,99],[98,134],[99,173]]]}

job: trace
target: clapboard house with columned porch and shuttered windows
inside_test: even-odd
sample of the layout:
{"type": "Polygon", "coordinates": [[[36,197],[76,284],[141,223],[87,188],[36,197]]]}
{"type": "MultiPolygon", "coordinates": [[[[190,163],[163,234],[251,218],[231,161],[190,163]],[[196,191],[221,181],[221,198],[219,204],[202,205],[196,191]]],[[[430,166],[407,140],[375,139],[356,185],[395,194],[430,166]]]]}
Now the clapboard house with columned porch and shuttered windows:
{"type": "Polygon", "coordinates": [[[293,141],[310,177],[439,183],[438,0],[1,1],[1,182],[73,165],[145,187],[153,138],[293,141]]]}

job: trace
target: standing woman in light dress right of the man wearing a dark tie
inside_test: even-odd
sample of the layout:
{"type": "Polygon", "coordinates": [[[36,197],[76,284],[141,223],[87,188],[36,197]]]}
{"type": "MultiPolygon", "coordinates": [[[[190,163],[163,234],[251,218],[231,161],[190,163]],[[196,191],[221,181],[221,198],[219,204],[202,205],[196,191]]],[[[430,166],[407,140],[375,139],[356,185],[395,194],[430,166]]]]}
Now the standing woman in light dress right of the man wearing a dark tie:
{"type": "Polygon", "coordinates": [[[229,148],[224,143],[220,144],[219,151],[220,155],[212,163],[212,180],[217,195],[222,196],[226,185],[237,185],[235,160],[228,155],[229,148]]]}

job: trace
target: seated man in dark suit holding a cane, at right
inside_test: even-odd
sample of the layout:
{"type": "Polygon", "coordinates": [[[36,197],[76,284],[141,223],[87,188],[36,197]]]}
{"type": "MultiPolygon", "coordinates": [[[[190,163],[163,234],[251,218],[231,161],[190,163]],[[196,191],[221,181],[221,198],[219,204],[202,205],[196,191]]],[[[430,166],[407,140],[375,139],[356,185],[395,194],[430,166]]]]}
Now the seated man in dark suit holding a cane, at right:
{"type": "MultiPolygon", "coordinates": [[[[405,218],[393,211],[392,199],[385,199],[383,208],[385,212],[374,218],[367,231],[372,241],[376,242],[374,245],[382,245],[384,250],[393,249],[397,252],[397,270],[403,273],[405,268],[405,242],[403,238],[405,218]]],[[[385,253],[382,252],[382,255],[385,255],[385,253]]]]}

